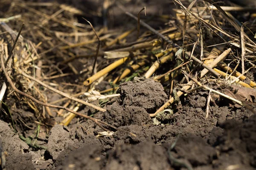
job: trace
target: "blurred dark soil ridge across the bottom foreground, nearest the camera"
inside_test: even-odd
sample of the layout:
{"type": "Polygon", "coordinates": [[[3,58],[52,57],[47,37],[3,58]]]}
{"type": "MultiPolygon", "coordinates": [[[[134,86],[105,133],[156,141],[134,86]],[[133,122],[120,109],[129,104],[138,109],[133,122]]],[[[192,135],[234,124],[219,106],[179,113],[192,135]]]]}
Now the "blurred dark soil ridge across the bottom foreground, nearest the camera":
{"type": "MultiPolygon", "coordinates": [[[[189,162],[197,170],[227,169],[232,166],[238,170],[254,169],[255,121],[255,115],[243,123],[226,121],[221,125],[223,129],[215,127],[212,130],[211,142],[208,143],[193,134],[179,137],[170,154],[189,162]]],[[[106,156],[102,156],[100,145],[86,145],[70,153],[60,169],[179,169],[180,165],[169,159],[169,147],[167,143],[156,145],[148,138],[148,141],[137,145],[117,144],[106,156]]]]}

